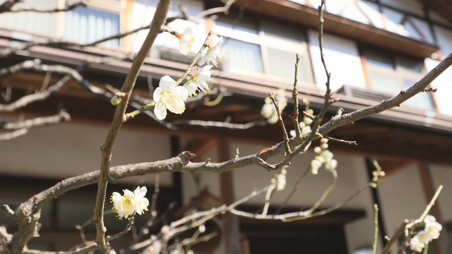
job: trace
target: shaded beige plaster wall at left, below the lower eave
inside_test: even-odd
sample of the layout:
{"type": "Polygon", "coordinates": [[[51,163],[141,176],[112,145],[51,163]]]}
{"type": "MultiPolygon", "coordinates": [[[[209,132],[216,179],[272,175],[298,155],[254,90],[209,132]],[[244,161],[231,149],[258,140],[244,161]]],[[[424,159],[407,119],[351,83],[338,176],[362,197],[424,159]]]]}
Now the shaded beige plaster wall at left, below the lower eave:
{"type": "MultiPolygon", "coordinates": [[[[100,145],[107,132],[108,126],[70,122],[32,129],[25,136],[0,142],[0,173],[62,179],[98,170],[100,145]]],[[[111,166],[168,159],[170,154],[169,136],[127,130],[123,126],[113,148],[111,166]],[[153,148],[155,145],[158,149],[153,148]]],[[[153,179],[153,175],[146,175],[118,182],[144,180],[153,185],[153,179]]],[[[171,174],[161,174],[160,183],[171,186],[171,174]]]]}

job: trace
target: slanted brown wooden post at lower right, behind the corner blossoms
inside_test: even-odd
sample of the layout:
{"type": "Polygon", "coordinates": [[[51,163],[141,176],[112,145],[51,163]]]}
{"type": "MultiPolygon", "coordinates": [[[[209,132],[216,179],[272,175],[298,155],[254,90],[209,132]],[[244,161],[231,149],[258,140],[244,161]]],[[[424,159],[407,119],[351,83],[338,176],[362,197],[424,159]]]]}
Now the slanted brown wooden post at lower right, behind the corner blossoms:
{"type": "MultiPolygon", "coordinates": [[[[419,173],[422,179],[422,186],[424,187],[425,201],[427,204],[432,200],[435,195],[436,188],[433,186],[432,175],[430,174],[429,164],[427,162],[419,162],[419,173]]],[[[438,239],[433,240],[438,254],[450,253],[450,243],[449,237],[447,235],[447,228],[444,224],[441,212],[439,211],[438,200],[436,200],[435,205],[430,209],[430,214],[435,216],[436,221],[443,225],[443,230],[441,230],[441,235],[438,239]]]]}

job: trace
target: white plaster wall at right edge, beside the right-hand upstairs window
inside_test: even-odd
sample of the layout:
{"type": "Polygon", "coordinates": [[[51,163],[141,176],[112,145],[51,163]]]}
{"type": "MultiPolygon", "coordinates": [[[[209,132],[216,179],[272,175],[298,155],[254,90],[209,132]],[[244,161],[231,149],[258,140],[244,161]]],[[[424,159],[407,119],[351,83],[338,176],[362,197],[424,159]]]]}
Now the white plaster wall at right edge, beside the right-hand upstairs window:
{"type": "MultiPolygon", "coordinates": [[[[437,60],[430,58],[425,59],[425,66],[428,70],[433,69],[438,63],[439,61],[437,60]]],[[[445,115],[452,115],[452,100],[450,100],[450,94],[452,93],[452,69],[447,68],[441,73],[439,77],[432,82],[432,87],[438,89],[433,96],[435,96],[439,112],[445,115]]]]}

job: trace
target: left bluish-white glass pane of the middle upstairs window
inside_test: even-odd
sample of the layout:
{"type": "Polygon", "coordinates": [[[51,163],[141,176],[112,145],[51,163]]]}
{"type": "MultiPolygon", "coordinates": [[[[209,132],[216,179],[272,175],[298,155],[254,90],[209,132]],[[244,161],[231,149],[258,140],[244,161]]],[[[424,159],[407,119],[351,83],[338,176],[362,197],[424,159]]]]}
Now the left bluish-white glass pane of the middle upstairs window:
{"type": "Polygon", "coordinates": [[[225,38],[225,47],[229,48],[229,68],[264,72],[260,46],[248,42],[225,38]]]}

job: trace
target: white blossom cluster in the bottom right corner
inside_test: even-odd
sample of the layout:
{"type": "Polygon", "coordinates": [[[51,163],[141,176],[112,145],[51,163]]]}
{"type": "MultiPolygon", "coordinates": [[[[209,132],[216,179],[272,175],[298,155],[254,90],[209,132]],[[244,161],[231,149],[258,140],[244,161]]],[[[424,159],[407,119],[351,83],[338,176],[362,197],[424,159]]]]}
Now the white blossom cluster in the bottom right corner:
{"type": "Polygon", "coordinates": [[[442,225],[436,221],[436,218],[432,215],[427,215],[424,218],[424,222],[424,230],[419,231],[413,238],[410,239],[411,250],[421,252],[422,248],[425,247],[425,244],[439,237],[442,225]]]}

